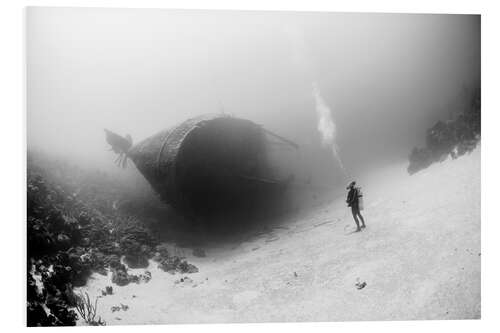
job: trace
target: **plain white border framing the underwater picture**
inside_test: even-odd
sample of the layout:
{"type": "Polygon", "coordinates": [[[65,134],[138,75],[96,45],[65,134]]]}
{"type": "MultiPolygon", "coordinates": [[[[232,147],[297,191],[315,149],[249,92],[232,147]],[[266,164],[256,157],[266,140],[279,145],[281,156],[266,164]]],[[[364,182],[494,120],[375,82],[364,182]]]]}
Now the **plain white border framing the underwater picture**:
{"type": "MultiPolygon", "coordinates": [[[[235,325],[169,325],[114,326],[107,331],[137,329],[151,331],[253,332],[254,330],[283,330],[299,332],[309,329],[347,332],[421,332],[428,331],[492,331],[496,324],[500,276],[498,265],[500,237],[499,218],[495,216],[495,189],[498,185],[499,151],[497,143],[500,124],[498,78],[500,59],[498,5],[488,1],[169,1],[169,0],[3,0],[0,8],[0,103],[1,127],[1,255],[2,273],[0,301],[2,329],[26,329],[25,325],[25,91],[24,91],[24,10],[25,6],[116,7],[116,8],[185,8],[239,10],[297,10],[350,12],[411,12],[411,13],[475,13],[482,14],[482,320],[478,321],[415,321],[415,322],[350,322],[299,324],[235,324],[235,325]]],[[[63,329],[66,330],[67,328],[63,329]]],[[[85,329],[85,328],[80,328],[85,329]]],[[[45,330],[45,329],[42,329],[45,330]]]]}

